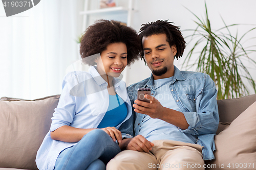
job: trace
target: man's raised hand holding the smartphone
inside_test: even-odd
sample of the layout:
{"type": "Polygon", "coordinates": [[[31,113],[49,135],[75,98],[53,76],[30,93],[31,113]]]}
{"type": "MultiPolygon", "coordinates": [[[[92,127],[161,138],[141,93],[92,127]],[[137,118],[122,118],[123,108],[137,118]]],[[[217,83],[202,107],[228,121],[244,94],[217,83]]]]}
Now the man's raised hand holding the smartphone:
{"type": "Polygon", "coordinates": [[[150,103],[135,100],[133,107],[134,111],[141,114],[147,114],[152,118],[161,118],[164,112],[164,107],[161,103],[151,95],[145,94],[144,98],[150,100],[150,103]]]}

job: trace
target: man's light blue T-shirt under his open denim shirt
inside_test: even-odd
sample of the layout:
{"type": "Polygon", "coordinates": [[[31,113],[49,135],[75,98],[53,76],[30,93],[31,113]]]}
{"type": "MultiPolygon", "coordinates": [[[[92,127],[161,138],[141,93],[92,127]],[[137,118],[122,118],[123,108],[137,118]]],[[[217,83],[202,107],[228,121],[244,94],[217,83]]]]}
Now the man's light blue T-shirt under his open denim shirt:
{"type": "MultiPolygon", "coordinates": [[[[173,81],[173,77],[158,79],[153,81],[156,91],[155,98],[163,107],[180,111],[176,104],[172,93],[169,90],[169,84],[173,81]]],[[[151,118],[144,115],[140,126],[139,134],[144,136],[148,141],[153,140],[176,140],[187,143],[196,143],[196,135],[181,132],[178,127],[165,122],[158,118],[151,118]]]]}

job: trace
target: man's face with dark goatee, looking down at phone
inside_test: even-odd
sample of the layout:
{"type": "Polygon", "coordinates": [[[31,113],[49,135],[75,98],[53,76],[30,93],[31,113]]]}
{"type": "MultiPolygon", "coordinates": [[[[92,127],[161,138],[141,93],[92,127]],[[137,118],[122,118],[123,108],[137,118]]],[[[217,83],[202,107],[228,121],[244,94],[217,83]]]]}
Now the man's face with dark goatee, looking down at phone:
{"type": "Polygon", "coordinates": [[[155,34],[142,38],[146,63],[154,79],[164,79],[174,75],[176,46],[169,46],[165,34],[155,34]]]}

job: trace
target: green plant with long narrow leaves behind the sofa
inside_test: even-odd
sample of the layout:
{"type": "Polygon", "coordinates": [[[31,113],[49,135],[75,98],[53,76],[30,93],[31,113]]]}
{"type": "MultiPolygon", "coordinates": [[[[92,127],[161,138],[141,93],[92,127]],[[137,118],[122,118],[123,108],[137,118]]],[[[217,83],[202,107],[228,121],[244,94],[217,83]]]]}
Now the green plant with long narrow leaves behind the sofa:
{"type": "Polygon", "coordinates": [[[219,100],[248,95],[249,91],[245,81],[249,82],[256,93],[255,81],[243,63],[245,59],[249,60],[256,70],[256,62],[248,56],[248,54],[256,52],[255,45],[250,47],[242,45],[245,35],[256,28],[251,28],[241,37],[238,37],[238,32],[236,35],[231,34],[230,27],[239,24],[227,26],[222,19],[225,27],[214,31],[211,29],[206,3],[205,10],[206,18],[204,20],[189,10],[198,20],[195,21],[196,29],[185,30],[193,32],[185,37],[185,39],[190,38],[188,43],[193,43],[193,47],[188,52],[183,66],[186,65],[187,68],[191,68],[196,65],[197,71],[208,74],[216,83],[217,99],[219,100]],[[197,62],[189,64],[191,56],[197,57],[197,62]]]}

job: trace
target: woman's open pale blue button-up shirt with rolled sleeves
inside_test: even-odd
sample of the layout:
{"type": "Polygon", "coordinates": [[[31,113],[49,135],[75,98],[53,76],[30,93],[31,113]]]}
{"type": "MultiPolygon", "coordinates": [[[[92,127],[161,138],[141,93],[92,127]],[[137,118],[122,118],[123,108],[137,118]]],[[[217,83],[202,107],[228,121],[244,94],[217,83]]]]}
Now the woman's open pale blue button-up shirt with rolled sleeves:
{"type": "MultiPolygon", "coordinates": [[[[116,78],[113,79],[113,84],[116,93],[127,107],[126,118],[116,128],[122,132],[122,137],[130,138],[133,135],[131,122],[129,122],[132,118],[132,106],[126,85],[116,78]]],[[[50,132],[64,125],[83,129],[98,127],[109,107],[107,87],[108,83],[102,79],[94,66],[89,68],[89,72],[74,71],[65,76],[59,103],[53,113],[50,131],[37,151],[36,164],[40,170],[52,170],[59,153],[77,143],[53,140],[50,132]]]]}

